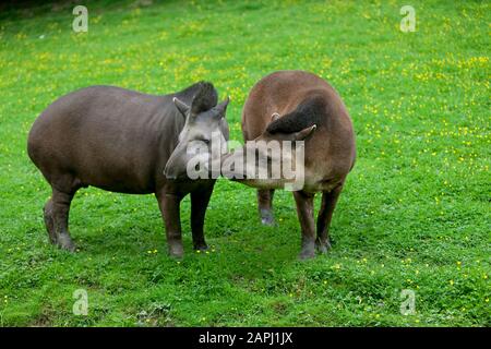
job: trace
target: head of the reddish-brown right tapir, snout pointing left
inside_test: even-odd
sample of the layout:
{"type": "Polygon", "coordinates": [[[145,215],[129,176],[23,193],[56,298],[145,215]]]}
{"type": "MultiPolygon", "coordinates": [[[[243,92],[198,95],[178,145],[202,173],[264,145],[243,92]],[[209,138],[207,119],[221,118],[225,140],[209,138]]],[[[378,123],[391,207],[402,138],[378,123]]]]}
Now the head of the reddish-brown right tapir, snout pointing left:
{"type": "Polygon", "coordinates": [[[254,188],[302,189],[306,171],[303,141],[313,133],[316,124],[291,128],[288,118],[284,118],[274,113],[259,137],[224,156],[223,176],[254,188]]]}

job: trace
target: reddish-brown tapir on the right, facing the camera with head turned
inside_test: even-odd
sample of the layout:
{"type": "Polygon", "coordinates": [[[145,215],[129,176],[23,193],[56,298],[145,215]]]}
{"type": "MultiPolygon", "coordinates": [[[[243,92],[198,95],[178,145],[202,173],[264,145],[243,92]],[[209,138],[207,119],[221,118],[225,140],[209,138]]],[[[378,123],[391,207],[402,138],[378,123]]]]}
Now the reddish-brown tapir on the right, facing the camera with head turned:
{"type": "MultiPolygon", "coordinates": [[[[274,190],[284,188],[287,180],[284,177],[254,179],[248,178],[248,173],[279,163],[284,166],[288,157],[254,144],[260,141],[304,141],[304,182],[300,190],[294,191],[302,233],[300,257],[313,257],[315,245],[326,252],[331,246],[328,228],[333,210],[356,157],[351,120],[338,94],[312,73],[272,73],[258,82],[249,94],[242,111],[242,133],[244,141],[254,141],[252,145],[249,142],[249,146],[255,147],[258,156],[265,161],[248,160],[241,170],[227,167],[223,171],[226,177],[259,188],[259,212],[263,224],[267,225],[274,224],[274,190]],[[313,200],[316,192],[322,192],[322,205],[315,237],[313,200]]],[[[246,147],[238,149],[221,157],[221,164],[240,163],[246,153],[246,147]]]]}

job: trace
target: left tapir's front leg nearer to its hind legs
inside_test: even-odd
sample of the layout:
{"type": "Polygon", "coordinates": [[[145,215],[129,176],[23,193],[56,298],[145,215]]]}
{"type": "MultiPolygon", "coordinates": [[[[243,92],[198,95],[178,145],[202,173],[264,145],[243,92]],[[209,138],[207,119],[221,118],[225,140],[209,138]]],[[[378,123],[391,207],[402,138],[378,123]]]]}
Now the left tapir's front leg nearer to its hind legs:
{"type": "Polygon", "coordinates": [[[169,254],[172,257],[182,257],[184,249],[182,246],[180,203],[182,196],[175,194],[157,194],[158,206],[166,225],[167,244],[169,254]]]}

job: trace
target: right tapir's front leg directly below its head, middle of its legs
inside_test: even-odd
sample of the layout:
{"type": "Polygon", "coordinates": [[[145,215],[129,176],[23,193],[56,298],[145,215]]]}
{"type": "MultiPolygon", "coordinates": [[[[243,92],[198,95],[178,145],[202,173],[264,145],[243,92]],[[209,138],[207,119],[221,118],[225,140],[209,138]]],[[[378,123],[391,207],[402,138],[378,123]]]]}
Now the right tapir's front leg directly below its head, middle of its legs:
{"type": "Polygon", "coordinates": [[[302,250],[300,260],[312,258],[315,256],[315,224],[313,216],[313,198],[315,194],[302,191],[294,192],[295,202],[297,203],[297,214],[300,220],[302,231],[302,250]]]}

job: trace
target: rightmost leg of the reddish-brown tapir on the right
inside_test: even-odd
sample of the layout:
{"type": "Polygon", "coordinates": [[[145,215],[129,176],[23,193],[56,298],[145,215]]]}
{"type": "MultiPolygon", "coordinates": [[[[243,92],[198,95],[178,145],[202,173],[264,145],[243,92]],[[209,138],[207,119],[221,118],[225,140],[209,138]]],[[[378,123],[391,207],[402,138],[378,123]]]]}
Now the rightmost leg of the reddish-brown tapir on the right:
{"type": "Polygon", "coordinates": [[[320,252],[325,253],[331,249],[330,226],[333,218],[334,207],[343,190],[343,185],[336,186],[331,192],[322,193],[322,204],[318,216],[318,239],[315,245],[320,252]]]}

